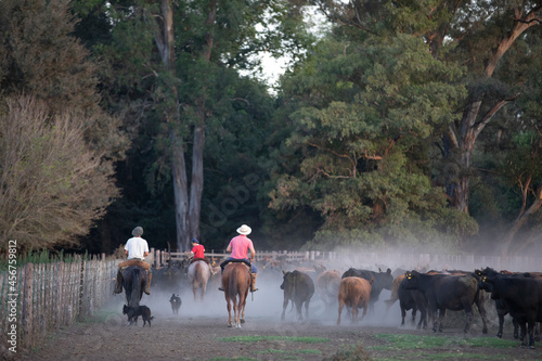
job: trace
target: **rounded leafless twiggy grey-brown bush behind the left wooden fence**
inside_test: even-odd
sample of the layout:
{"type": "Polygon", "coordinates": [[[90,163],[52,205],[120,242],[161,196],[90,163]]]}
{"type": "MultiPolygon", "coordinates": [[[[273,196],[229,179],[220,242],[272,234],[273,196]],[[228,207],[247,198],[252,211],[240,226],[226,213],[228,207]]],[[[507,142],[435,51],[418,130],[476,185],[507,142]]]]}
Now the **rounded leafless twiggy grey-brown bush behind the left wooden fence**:
{"type": "Polygon", "coordinates": [[[49,112],[31,96],[9,98],[0,112],[0,237],[22,252],[73,245],[116,195],[112,168],[86,145],[85,123],[49,112]]]}

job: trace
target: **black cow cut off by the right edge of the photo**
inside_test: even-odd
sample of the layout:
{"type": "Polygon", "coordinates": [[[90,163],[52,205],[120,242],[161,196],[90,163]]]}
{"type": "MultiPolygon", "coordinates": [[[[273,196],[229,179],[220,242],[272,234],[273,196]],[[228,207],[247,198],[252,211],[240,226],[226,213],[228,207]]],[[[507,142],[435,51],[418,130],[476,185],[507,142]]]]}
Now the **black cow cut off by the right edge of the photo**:
{"type": "Polygon", "coordinates": [[[528,333],[529,348],[534,348],[534,324],[542,321],[542,280],[496,274],[482,276],[480,288],[491,292],[492,299],[504,301],[521,328],[521,347],[527,346],[528,333]]]}

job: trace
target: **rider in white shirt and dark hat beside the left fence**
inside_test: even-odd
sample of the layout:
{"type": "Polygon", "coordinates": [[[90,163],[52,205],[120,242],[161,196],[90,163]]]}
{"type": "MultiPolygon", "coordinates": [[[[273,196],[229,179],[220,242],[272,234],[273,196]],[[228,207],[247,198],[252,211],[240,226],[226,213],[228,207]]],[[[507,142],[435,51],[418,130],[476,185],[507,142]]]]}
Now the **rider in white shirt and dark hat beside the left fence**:
{"type": "Polygon", "coordinates": [[[151,265],[145,262],[145,257],[149,256],[149,243],[142,238],[143,228],[136,227],[132,230],[133,237],[126,242],[125,254],[128,256],[128,260],[118,263],[117,272],[117,284],[115,286],[115,294],[122,293],[122,272],[129,266],[140,266],[146,270],[146,286],[143,291],[145,294],[151,294],[151,280],[153,274],[151,272],[151,265]]]}

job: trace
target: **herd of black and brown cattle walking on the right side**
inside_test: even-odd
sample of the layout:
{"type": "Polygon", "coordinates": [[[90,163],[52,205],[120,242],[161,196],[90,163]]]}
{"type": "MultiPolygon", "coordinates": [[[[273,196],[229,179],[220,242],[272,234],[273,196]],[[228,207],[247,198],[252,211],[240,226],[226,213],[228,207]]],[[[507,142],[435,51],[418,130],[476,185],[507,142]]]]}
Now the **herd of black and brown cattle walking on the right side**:
{"type": "MultiPolygon", "coordinates": [[[[384,288],[391,291],[385,300],[387,309],[399,300],[401,325],[406,311],[412,310],[412,323],[417,311],[421,313],[417,328],[426,328],[433,322],[434,332],[442,332],[447,310],[464,311],[468,333],[475,317],[474,306],[481,318],[482,333],[488,333],[486,307],[494,307],[499,317],[496,336],[502,337],[504,317],[513,318],[514,338],[519,338],[521,347],[534,348],[542,322],[542,273],[507,272],[491,268],[468,271],[361,270],[350,268],[341,275],[336,270],[320,270],[315,281],[298,270],[284,272],[281,285],[284,289],[283,310],[288,301],[297,309],[298,320],[302,320],[301,306],[306,318],[309,315],[310,299],[317,291],[326,310],[338,302],[337,324],[340,324],[343,308],[346,306],[351,322],[363,320],[371,311],[384,288]],[[486,299],[488,304],[486,305],[486,299]],[[491,301],[489,301],[491,299],[491,301]],[[491,305],[491,304],[493,305],[491,305]],[[359,309],[363,310],[359,317],[359,309]]],[[[284,311],[282,314],[284,320],[284,311]]]]}

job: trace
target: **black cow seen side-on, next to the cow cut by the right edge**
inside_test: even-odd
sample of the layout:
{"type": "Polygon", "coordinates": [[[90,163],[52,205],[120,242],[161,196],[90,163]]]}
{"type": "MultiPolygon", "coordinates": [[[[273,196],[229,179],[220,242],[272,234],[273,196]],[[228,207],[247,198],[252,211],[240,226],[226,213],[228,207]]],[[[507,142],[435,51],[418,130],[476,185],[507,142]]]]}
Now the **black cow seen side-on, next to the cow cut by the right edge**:
{"type": "Polygon", "coordinates": [[[476,304],[483,322],[482,333],[488,333],[486,322],[486,309],[479,297],[478,278],[473,274],[448,275],[448,274],[426,274],[416,271],[405,273],[402,283],[405,289],[418,289],[425,296],[429,307],[429,313],[434,315],[433,331],[442,332],[446,310],[465,310],[466,323],[463,332],[467,333],[473,322],[473,304],[476,304]],[[437,311],[439,320],[437,321],[437,311]]]}

